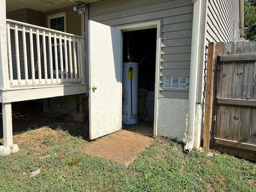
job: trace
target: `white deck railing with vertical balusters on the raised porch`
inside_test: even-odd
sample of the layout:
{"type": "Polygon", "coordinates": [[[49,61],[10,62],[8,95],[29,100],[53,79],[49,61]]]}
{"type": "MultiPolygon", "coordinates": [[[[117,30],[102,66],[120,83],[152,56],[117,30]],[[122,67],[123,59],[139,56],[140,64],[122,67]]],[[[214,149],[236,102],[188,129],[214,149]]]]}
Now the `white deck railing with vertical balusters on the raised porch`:
{"type": "Polygon", "coordinates": [[[83,82],[83,37],[6,21],[10,85],[83,82]]]}

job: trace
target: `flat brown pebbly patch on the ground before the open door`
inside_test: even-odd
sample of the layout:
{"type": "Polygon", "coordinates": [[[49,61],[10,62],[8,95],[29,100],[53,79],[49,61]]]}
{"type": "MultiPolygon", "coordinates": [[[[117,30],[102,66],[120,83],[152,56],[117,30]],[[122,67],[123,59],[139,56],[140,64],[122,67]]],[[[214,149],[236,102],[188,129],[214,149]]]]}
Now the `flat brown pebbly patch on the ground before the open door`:
{"type": "Polygon", "coordinates": [[[90,142],[84,152],[128,166],[152,142],[153,138],[148,136],[120,130],[90,142]]]}

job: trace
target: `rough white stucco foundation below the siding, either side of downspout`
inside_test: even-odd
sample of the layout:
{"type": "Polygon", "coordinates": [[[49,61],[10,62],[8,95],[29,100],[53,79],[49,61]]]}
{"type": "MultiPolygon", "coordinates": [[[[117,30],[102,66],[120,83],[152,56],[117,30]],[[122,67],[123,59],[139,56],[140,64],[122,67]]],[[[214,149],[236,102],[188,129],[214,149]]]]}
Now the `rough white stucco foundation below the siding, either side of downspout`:
{"type": "MultiPolygon", "coordinates": [[[[202,108],[196,104],[194,146],[200,147],[202,108]]],[[[158,135],[186,142],[188,130],[188,99],[159,98],[158,135]]]]}

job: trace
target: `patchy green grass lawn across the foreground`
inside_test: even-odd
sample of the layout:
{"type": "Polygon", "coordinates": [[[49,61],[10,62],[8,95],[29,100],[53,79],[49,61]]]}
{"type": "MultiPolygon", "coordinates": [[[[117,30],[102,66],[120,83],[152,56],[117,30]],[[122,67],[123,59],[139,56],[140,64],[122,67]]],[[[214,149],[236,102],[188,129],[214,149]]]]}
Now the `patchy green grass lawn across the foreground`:
{"type": "Polygon", "coordinates": [[[126,167],[82,152],[86,142],[62,130],[40,128],[14,137],[22,149],[0,156],[0,192],[253,192],[256,164],[228,154],[192,150],[155,138],[126,167]],[[40,168],[40,174],[30,172],[40,168]]]}

